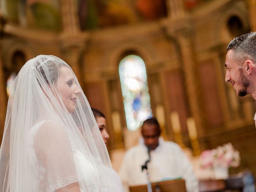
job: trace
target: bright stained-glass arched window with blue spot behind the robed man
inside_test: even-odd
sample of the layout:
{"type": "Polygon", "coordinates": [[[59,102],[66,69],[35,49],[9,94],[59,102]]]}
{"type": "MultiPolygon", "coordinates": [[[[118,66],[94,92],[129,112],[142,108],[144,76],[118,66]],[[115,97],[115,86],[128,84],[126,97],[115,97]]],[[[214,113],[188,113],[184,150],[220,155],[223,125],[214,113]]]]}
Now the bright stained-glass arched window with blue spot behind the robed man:
{"type": "Polygon", "coordinates": [[[119,64],[128,130],[138,129],[152,116],[145,63],[139,56],[128,55],[119,64]]]}

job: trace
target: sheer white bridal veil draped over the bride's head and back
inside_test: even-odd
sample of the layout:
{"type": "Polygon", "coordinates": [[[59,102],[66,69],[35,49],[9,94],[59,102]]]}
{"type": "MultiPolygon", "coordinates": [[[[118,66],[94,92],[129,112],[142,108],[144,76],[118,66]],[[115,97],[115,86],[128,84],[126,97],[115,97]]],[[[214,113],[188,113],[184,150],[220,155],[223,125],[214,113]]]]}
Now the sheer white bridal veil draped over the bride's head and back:
{"type": "Polygon", "coordinates": [[[110,158],[83,92],[72,113],[59,91],[62,69],[56,56],[26,62],[8,100],[0,149],[0,191],[54,192],[70,184],[80,191],[114,191],[110,158]]]}

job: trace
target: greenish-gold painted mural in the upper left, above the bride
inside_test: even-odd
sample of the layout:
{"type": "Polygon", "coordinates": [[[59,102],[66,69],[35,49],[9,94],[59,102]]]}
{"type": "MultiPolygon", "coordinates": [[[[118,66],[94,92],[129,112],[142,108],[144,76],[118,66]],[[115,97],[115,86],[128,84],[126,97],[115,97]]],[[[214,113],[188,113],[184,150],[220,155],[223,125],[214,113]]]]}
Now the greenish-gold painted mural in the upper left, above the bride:
{"type": "Polygon", "coordinates": [[[1,10],[7,20],[22,26],[51,31],[61,29],[58,0],[1,0],[1,10]]]}

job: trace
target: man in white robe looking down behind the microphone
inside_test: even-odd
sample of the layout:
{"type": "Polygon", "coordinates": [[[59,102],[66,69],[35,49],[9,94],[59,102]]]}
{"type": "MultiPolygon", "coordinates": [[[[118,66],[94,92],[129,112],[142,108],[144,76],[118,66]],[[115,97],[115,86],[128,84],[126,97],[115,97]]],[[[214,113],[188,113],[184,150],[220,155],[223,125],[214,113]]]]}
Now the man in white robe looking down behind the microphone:
{"type": "Polygon", "coordinates": [[[146,170],[142,172],[142,165],[148,160],[150,149],[150,182],[182,178],[188,192],[198,192],[198,180],[192,165],[178,144],[160,137],[156,118],[144,121],[141,132],[143,138],[126,152],[120,168],[119,175],[126,190],[129,191],[129,186],[147,184],[146,170]]]}

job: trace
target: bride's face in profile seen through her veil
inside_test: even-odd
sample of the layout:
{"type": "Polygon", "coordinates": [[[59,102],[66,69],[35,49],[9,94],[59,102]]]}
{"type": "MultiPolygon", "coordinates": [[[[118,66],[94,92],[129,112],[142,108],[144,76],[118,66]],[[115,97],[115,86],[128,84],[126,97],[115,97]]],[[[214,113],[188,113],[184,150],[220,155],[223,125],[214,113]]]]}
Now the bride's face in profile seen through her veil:
{"type": "Polygon", "coordinates": [[[69,113],[74,112],[76,96],[81,93],[80,88],[74,81],[74,75],[71,70],[65,66],[60,68],[59,80],[55,83],[55,88],[62,98],[69,113]]]}

